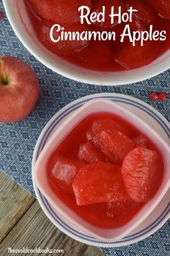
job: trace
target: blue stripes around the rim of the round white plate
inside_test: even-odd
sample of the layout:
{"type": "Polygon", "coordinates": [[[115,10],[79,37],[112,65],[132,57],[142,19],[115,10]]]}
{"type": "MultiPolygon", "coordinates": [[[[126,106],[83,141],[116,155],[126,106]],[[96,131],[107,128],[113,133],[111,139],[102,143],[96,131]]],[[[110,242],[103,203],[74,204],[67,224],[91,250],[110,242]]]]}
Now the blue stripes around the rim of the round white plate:
{"type": "MultiPolygon", "coordinates": [[[[88,99],[84,99],[84,100],[82,99],[82,101],[80,101],[79,103],[75,103],[75,104],[71,105],[69,108],[66,108],[65,111],[63,111],[61,114],[59,114],[59,116],[57,116],[56,119],[53,120],[53,122],[50,124],[50,126],[46,130],[45,134],[43,135],[40,144],[38,145],[37,154],[35,155],[36,160],[37,160],[38,156],[40,155],[40,153],[42,151],[42,148],[44,148],[44,146],[45,146],[45,144],[48,140],[48,137],[50,136],[50,133],[53,131],[55,126],[64,117],[66,117],[68,114],[71,114],[77,108],[80,108],[82,105],[84,105],[84,103],[88,102],[89,100],[95,99],[95,98],[107,98],[107,99],[112,100],[114,102],[128,103],[131,106],[135,106],[136,108],[140,108],[142,111],[145,111],[153,119],[155,119],[158,122],[158,124],[162,127],[162,129],[164,129],[164,132],[166,132],[166,135],[170,138],[170,129],[169,129],[169,127],[160,118],[160,116],[158,116],[158,114],[156,114],[156,112],[151,110],[151,108],[148,108],[147,106],[142,105],[142,104],[140,104],[136,101],[133,101],[132,99],[128,99],[128,98],[115,97],[115,96],[111,96],[111,95],[110,96],[107,96],[107,95],[106,96],[99,96],[99,97],[94,96],[94,97],[91,97],[91,98],[88,98],[88,99]]],[[[48,210],[48,213],[50,214],[50,216],[52,216],[55,219],[55,221],[57,221],[63,227],[63,229],[66,229],[68,232],[70,232],[74,236],[78,236],[80,239],[86,239],[89,242],[94,242],[94,243],[101,243],[101,241],[99,241],[97,239],[94,239],[93,237],[88,236],[86,234],[82,234],[81,232],[76,231],[75,229],[72,229],[70,226],[68,226],[64,221],[61,220],[61,218],[58,217],[58,215],[55,213],[53,208],[51,208],[48,200],[46,200],[46,198],[42,195],[40,190],[37,189],[37,191],[39,193],[39,196],[40,196],[43,204],[45,205],[46,210],[48,210]]],[[[155,221],[153,221],[153,223],[151,223],[151,225],[149,225],[146,229],[143,229],[142,231],[139,231],[136,234],[126,236],[125,238],[121,239],[120,241],[117,241],[116,244],[122,243],[122,242],[129,242],[131,239],[138,239],[138,237],[145,235],[146,233],[151,231],[151,229],[154,229],[158,225],[158,223],[161,223],[161,221],[163,221],[166,214],[169,213],[169,210],[170,210],[170,203],[166,206],[166,208],[161,213],[161,215],[155,221]]],[[[102,244],[110,244],[110,243],[102,242],[102,244]]],[[[112,244],[115,244],[115,243],[113,242],[112,244]]]]}

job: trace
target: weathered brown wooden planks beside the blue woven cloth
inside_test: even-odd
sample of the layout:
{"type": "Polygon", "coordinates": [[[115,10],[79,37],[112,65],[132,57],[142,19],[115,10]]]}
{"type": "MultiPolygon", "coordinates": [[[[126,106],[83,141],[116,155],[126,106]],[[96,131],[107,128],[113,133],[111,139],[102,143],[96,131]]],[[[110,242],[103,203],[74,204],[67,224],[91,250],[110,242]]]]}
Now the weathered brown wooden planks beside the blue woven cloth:
{"type": "Polygon", "coordinates": [[[63,234],[48,220],[37,200],[2,171],[0,171],[0,205],[1,256],[10,255],[8,247],[63,249],[63,253],[43,255],[103,255],[97,247],[76,242],[63,234]]]}

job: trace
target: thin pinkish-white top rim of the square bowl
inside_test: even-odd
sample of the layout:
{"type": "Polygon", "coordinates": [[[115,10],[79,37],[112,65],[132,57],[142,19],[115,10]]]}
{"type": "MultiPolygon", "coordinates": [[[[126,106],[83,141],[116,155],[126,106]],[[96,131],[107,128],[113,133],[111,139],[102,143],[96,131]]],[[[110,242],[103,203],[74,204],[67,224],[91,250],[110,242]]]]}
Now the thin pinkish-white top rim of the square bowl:
{"type": "MultiPolygon", "coordinates": [[[[104,102],[104,103],[109,103],[112,106],[117,106],[117,108],[120,108],[121,111],[123,111],[124,113],[127,113],[129,116],[132,116],[134,119],[138,120],[138,123],[141,124],[141,122],[143,123],[143,127],[146,127],[148,129],[150,129],[150,133],[154,133],[154,136],[157,137],[157,139],[159,141],[161,141],[161,144],[164,145],[164,147],[166,148],[167,151],[169,151],[170,153],[170,148],[169,145],[167,145],[167,143],[164,141],[164,139],[161,138],[160,135],[158,135],[157,132],[155,132],[153,130],[153,128],[151,126],[149,126],[145,121],[143,121],[142,119],[140,119],[138,116],[136,116],[135,114],[130,113],[130,111],[127,111],[125,108],[117,105],[117,103],[113,103],[112,101],[109,100],[105,100],[102,98],[97,98],[94,100],[89,101],[88,103],[85,103],[84,106],[82,106],[81,108],[79,108],[79,111],[74,112],[73,114],[71,114],[71,116],[68,117],[68,119],[66,121],[63,121],[63,124],[61,124],[61,127],[58,127],[58,129],[55,130],[54,134],[52,135],[52,137],[50,137],[50,139],[48,140],[47,144],[45,145],[45,147],[42,149],[42,152],[40,153],[39,158],[37,159],[37,162],[35,163],[35,167],[32,171],[32,176],[34,178],[35,184],[37,185],[37,187],[40,189],[40,191],[42,192],[42,195],[45,195],[45,197],[48,199],[48,201],[50,202],[51,205],[53,205],[54,208],[56,208],[65,218],[68,218],[69,221],[72,221],[73,223],[75,223],[76,226],[78,226],[79,228],[81,227],[81,229],[84,229],[84,226],[81,226],[81,223],[77,223],[75,220],[73,220],[73,218],[71,218],[70,216],[68,216],[67,213],[65,213],[60,206],[56,205],[55,202],[53,202],[53,199],[50,198],[50,196],[48,195],[48,192],[45,191],[44,187],[42,187],[42,185],[40,184],[40,182],[37,179],[37,166],[39,165],[39,163],[42,161],[42,157],[45,155],[46,150],[50,147],[50,145],[53,143],[53,140],[55,140],[55,138],[58,136],[58,133],[61,132],[61,130],[63,129],[63,127],[66,127],[66,125],[71,121],[71,119],[73,119],[73,117],[78,116],[79,112],[84,111],[84,109],[88,108],[88,106],[90,106],[91,104],[94,103],[100,103],[100,102],[104,102]]],[[[81,119],[79,119],[80,121],[81,119]]],[[[66,135],[66,134],[65,134],[66,135]]],[[[65,135],[61,135],[61,137],[65,136],[65,135]]],[[[62,140],[62,139],[61,139],[62,140]]],[[[60,140],[60,141],[61,141],[60,140]]],[[[148,202],[146,205],[146,213],[143,214],[142,217],[140,217],[140,220],[138,221],[133,221],[132,223],[132,227],[128,227],[127,230],[122,231],[123,236],[127,236],[127,234],[129,234],[129,232],[133,231],[133,229],[135,229],[142,221],[144,221],[144,219],[146,219],[148,217],[148,215],[154,210],[154,208],[156,208],[156,205],[158,205],[158,202],[161,201],[161,198],[164,197],[164,195],[166,194],[167,190],[169,189],[170,186],[170,179],[166,182],[165,187],[162,188],[158,195],[156,197],[153,197],[153,202],[148,202]],[[150,205],[149,205],[150,204],[150,205]]],[[[145,206],[145,205],[144,205],[145,206]]],[[[141,210],[139,211],[139,213],[141,212],[141,210]]],[[[140,213],[141,215],[141,213],[140,213]]],[[[113,230],[113,229],[112,229],[113,230]]],[[[97,239],[102,239],[102,241],[106,241],[106,242],[113,242],[113,241],[117,241],[117,239],[120,239],[120,237],[122,237],[122,235],[118,235],[116,238],[109,238],[109,239],[105,239],[102,236],[99,236],[98,234],[93,233],[93,231],[89,231],[88,229],[86,229],[86,233],[89,233],[90,235],[96,237],[97,239]]]]}

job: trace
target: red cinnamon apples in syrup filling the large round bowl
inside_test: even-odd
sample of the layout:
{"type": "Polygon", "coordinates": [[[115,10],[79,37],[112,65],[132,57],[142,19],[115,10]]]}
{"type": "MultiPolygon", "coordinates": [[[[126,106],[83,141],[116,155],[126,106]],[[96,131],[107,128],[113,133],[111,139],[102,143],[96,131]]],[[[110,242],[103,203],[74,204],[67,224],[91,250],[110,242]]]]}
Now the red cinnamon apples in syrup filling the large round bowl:
{"type": "MultiPolygon", "coordinates": [[[[126,69],[135,69],[150,64],[166,51],[169,50],[170,42],[170,4],[169,1],[149,0],[115,0],[115,1],[49,1],[25,0],[27,12],[35,29],[40,43],[61,58],[86,69],[112,72],[126,69]],[[167,1],[167,3],[165,3],[167,1]],[[89,24],[88,20],[81,24],[79,7],[86,6],[91,13],[101,14],[100,22],[94,21],[89,24]],[[104,22],[102,12],[104,10],[104,22]],[[114,7],[115,13],[127,13],[130,8],[137,10],[133,12],[131,21],[112,23],[109,14],[114,7]],[[64,32],[87,31],[91,33],[107,31],[115,35],[115,40],[60,40],[54,43],[50,38],[50,29],[58,24],[64,28],[64,32]],[[125,37],[121,42],[121,35],[129,26],[126,33],[135,34],[136,42],[130,42],[125,37]],[[165,34],[166,31],[166,34],[165,34]],[[140,34],[146,38],[141,46],[140,34]]],[[[95,20],[95,19],[94,19],[95,20]]],[[[55,33],[56,40],[63,31],[55,33]]],[[[131,35],[130,34],[130,35],[131,35]]]]}

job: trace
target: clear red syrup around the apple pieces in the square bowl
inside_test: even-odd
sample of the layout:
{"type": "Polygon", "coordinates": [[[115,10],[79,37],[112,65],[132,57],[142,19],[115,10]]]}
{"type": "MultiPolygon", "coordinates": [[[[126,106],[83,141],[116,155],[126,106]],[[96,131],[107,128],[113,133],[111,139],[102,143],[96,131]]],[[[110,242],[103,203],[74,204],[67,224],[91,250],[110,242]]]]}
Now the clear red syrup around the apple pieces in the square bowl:
{"type": "MultiPolygon", "coordinates": [[[[55,195],[57,195],[68,206],[68,208],[71,208],[71,210],[73,210],[74,213],[76,213],[78,216],[80,216],[85,221],[91,223],[94,226],[98,226],[104,229],[112,229],[115,227],[123,226],[126,223],[128,223],[128,221],[130,221],[135,216],[135,214],[138,213],[140,208],[142,208],[146,202],[135,202],[130,197],[127,197],[125,198],[125,200],[117,200],[115,202],[101,202],[94,203],[91,205],[77,205],[72,185],[68,185],[66,184],[66,182],[63,181],[58,182],[58,179],[56,179],[55,175],[53,174],[53,168],[55,166],[55,162],[58,158],[58,155],[62,155],[62,158],[64,157],[67,159],[67,161],[63,162],[67,162],[68,166],[69,164],[71,166],[73,161],[77,161],[77,163],[79,163],[80,165],[80,168],[81,163],[86,168],[87,163],[83,163],[78,159],[79,148],[80,145],[87,142],[86,134],[91,129],[91,126],[92,124],[94,124],[94,121],[101,119],[110,119],[115,121],[115,123],[117,123],[117,126],[121,127],[121,132],[123,132],[130,139],[134,140],[135,138],[134,141],[135,143],[137,143],[135,147],[138,147],[138,141],[140,142],[142,136],[144,136],[143,147],[145,147],[147,143],[147,148],[149,150],[156,151],[156,153],[158,154],[159,168],[156,174],[156,178],[154,178],[154,182],[157,182],[157,188],[160,186],[162,176],[164,174],[164,162],[161,158],[161,153],[159,152],[158,148],[156,148],[156,146],[154,145],[154,142],[149,140],[149,138],[147,138],[145,135],[141,135],[141,131],[133,127],[129,122],[120,118],[120,116],[116,116],[115,114],[110,113],[91,114],[87,116],[85,119],[83,119],[76,127],[74,127],[71,130],[71,132],[63,139],[58,148],[56,148],[55,152],[53,152],[53,154],[50,156],[48,165],[46,167],[46,175],[48,183],[50,184],[50,187],[55,193],[55,195]]],[[[102,164],[105,163],[107,163],[108,166],[112,164],[108,160],[108,158],[105,158],[105,160],[102,162],[102,164]]],[[[95,165],[95,163],[92,164],[95,165]]],[[[119,169],[121,170],[121,164],[120,167],[117,166],[117,171],[119,171],[119,169]]],[[[79,170],[80,169],[78,168],[78,174],[79,170]]],[[[96,172],[96,170],[93,171],[96,172]]]]}

